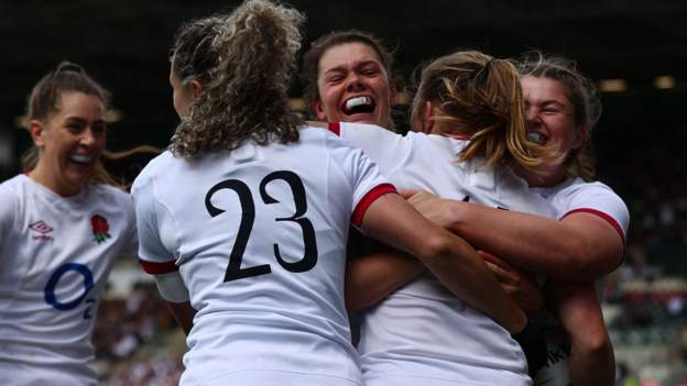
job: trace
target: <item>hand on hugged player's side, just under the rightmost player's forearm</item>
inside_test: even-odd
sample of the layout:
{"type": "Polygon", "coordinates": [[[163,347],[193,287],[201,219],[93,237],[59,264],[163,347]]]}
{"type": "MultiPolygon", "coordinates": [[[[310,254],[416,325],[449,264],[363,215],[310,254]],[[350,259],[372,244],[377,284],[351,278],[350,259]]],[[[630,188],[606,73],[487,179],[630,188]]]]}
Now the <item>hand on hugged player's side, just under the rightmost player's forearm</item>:
{"type": "Polygon", "coordinates": [[[534,315],[542,309],[544,294],[533,275],[517,271],[517,268],[488,252],[478,251],[478,253],[494,274],[501,287],[515,300],[520,308],[527,315],[534,315]]]}

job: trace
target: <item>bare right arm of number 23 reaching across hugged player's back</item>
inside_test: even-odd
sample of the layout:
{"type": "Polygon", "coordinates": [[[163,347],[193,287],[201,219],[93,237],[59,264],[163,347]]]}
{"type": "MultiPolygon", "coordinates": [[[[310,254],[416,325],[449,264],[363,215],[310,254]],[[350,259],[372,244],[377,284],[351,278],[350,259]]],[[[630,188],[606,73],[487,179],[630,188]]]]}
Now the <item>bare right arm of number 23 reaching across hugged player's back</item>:
{"type": "Polygon", "coordinates": [[[364,232],[419,261],[456,297],[484,312],[511,332],[527,318],[501,288],[493,274],[465,240],[430,223],[401,196],[384,195],[368,208],[364,232]]]}

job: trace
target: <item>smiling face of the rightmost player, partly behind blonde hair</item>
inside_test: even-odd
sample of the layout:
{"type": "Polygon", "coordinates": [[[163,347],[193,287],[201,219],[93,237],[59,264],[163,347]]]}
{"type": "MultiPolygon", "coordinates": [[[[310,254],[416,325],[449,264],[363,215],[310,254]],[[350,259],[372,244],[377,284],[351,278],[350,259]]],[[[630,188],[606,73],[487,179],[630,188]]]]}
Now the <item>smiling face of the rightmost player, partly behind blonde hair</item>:
{"type": "MultiPolygon", "coordinates": [[[[521,84],[530,140],[566,155],[580,148],[586,128],[575,122],[575,106],[566,86],[555,79],[533,76],[524,76],[521,84]]],[[[547,174],[552,180],[563,178],[565,165],[552,165],[547,174]]]]}

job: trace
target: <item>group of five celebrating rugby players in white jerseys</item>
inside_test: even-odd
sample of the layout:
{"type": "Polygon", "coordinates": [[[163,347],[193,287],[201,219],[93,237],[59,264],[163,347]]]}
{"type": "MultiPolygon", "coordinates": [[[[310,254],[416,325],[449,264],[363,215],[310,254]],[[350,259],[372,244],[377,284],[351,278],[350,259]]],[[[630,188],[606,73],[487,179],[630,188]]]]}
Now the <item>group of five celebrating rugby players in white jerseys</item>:
{"type": "Polygon", "coordinates": [[[455,52],[423,67],[400,135],[391,55],[334,32],[304,56],[306,122],[287,97],[304,19],[248,0],[179,27],[181,123],[133,205],[100,163],[107,91],[69,63],[39,81],[26,173],[0,185],[0,381],[96,383],[97,297],[138,230],[188,334],[183,385],[611,385],[593,282],[629,214],[592,181],[593,84],[563,58],[455,52]],[[351,224],[383,245],[347,246],[351,224]]]}

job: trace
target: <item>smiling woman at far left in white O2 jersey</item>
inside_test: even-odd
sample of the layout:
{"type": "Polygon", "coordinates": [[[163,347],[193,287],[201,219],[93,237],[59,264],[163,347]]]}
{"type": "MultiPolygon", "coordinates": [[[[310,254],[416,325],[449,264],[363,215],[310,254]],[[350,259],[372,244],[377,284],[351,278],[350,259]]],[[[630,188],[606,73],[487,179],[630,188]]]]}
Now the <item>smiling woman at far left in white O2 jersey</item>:
{"type": "Polygon", "coordinates": [[[29,97],[34,147],[0,184],[0,384],[96,385],[99,295],[137,247],[132,202],[101,165],[108,102],[68,62],[29,97]]]}

